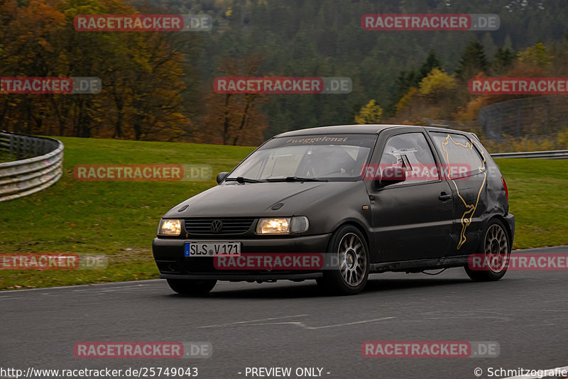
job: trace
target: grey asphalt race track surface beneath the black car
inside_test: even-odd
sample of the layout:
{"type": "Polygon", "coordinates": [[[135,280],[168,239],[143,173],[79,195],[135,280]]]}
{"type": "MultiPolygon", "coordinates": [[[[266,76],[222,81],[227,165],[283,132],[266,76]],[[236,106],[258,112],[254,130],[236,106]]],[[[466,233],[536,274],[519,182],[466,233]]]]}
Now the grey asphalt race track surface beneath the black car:
{"type": "MultiPolygon", "coordinates": [[[[524,252],[568,253],[568,246],[524,252]]],[[[313,281],[219,282],[205,298],[174,295],[165,280],[0,292],[0,368],[196,367],[198,378],[276,378],[247,376],[246,368],[290,367],[322,368],[323,378],[505,378],[488,376],[488,368],[568,366],[567,294],[566,271],[511,271],[476,283],[462,269],[371,275],[351,297],[322,297],[313,281]],[[496,341],[500,352],[364,358],[361,344],[376,340],[496,341]],[[80,341],[208,341],[213,353],[81,359],[73,352],[80,341]]]]}

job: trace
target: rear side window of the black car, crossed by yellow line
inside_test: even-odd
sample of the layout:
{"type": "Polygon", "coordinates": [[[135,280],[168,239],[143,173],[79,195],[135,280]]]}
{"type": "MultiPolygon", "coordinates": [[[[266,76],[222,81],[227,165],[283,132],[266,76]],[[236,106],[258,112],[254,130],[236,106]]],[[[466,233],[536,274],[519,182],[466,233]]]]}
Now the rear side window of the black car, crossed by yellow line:
{"type": "Polygon", "coordinates": [[[481,158],[471,138],[455,133],[431,133],[432,139],[447,163],[450,179],[457,179],[485,171],[485,161],[481,158]]]}

